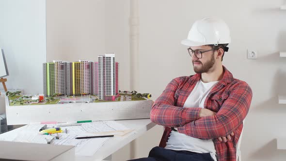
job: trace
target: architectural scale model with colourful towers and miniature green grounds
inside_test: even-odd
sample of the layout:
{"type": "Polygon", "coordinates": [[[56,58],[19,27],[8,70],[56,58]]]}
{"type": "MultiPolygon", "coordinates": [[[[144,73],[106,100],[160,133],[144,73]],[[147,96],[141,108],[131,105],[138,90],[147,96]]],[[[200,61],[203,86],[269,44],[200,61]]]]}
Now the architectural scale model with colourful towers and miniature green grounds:
{"type": "Polygon", "coordinates": [[[114,53],[97,58],[98,62],[44,63],[44,95],[8,91],[10,106],[148,100],[151,97],[149,93],[119,91],[119,63],[115,62],[114,53]]]}

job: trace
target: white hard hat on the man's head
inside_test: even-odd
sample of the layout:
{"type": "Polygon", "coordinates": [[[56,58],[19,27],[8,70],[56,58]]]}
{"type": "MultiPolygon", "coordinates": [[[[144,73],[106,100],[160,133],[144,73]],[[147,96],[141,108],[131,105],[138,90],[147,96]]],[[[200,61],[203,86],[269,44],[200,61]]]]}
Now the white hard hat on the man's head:
{"type": "Polygon", "coordinates": [[[231,42],[227,24],[218,17],[205,17],[195,21],[188,38],[183,45],[197,47],[211,44],[229,44],[231,42]]]}

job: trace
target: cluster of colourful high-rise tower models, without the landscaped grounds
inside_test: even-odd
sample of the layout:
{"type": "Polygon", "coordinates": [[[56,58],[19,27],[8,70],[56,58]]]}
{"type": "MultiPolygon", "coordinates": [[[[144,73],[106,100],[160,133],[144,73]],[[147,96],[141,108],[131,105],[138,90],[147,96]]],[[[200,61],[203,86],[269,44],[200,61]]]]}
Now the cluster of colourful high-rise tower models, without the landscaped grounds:
{"type": "Polygon", "coordinates": [[[44,95],[95,95],[98,100],[115,100],[119,97],[119,63],[115,62],[114,53],[97,58],[98,62],[79,60],[44,63],[44,95]]]}

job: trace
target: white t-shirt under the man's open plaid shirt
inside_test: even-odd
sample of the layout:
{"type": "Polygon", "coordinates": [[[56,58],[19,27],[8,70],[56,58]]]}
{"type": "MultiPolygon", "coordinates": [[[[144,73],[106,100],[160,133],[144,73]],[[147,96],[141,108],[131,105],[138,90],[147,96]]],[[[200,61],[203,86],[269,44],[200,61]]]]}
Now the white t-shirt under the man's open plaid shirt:
{"type": "MultiPolygon", "coordinates": [[[[183,107],[204,108],[208,93],[217,83],[218,81],[208,83],[204,83],[202,80],[198,81],[183,107]]],[[[172,131],[165,148],[172,150],[188,150],[196,153],[210,153],[212,159],[217,161],[216,150],[212,139],[201,140],[177,131],[172,131]]]]}

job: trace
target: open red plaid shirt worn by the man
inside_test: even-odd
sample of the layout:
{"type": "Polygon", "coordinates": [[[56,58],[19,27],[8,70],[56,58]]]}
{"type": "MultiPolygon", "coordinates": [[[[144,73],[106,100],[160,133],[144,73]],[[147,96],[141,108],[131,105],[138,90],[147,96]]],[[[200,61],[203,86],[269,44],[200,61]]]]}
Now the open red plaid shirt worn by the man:
{"type": "Polygon", "coordinates": [[[150,118],[152,122],[165,126],[160,147],[165,147],[171,133],[178,132],[199,139],[214,139],[218,161],[236,161],[236,145],[243,127],[242,121],[248,113],[252,90],[249,85],[233,78],[223,66],[224,74],[207,95],[204,107],[216,112],[214,116],[200,117],[200,107],[182,108],[201,74],[179,77],[172,80],[154,102],[150,118]],[[219,137],[230,135],[231,140],[219,142],[219,137]]]}

